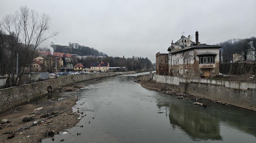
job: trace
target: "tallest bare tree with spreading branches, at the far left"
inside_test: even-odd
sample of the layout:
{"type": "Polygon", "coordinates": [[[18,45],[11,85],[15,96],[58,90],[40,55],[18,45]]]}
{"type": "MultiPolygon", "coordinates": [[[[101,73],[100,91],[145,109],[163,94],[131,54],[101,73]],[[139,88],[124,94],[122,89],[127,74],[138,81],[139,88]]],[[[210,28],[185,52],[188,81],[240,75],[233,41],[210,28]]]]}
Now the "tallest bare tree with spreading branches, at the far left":
{"type": "Polygon", "coordinates": [[[5,60],[0,62],[0,67],[8,76],[9,86],[17,86],[25,69],[32,63],[37,47],[46,39],[56,36],[57,32],[49,33],[49,15],[39,14],[26,6],[20,7],[14,15],[6,15],[1,23],[5,39],[3,50],[6,55],[5,60]],[[19,62],[16,61],[17,56],[19,62]]]}

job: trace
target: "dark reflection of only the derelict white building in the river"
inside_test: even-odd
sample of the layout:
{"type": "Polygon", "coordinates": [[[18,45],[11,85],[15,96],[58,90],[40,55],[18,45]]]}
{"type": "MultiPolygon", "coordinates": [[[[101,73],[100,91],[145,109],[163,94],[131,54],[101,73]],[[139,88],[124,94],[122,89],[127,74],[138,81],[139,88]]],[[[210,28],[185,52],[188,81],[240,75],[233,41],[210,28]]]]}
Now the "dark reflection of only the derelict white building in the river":
{"type": "Polygon", "coordinates": [[[221,140],[219,120],[209,112],[187,108],[182,104],[170,104],[169,118],[173,128],[178,126],[193,140],[221,140]],[[200,112],[200,113],[199,113],[200,112]]]}

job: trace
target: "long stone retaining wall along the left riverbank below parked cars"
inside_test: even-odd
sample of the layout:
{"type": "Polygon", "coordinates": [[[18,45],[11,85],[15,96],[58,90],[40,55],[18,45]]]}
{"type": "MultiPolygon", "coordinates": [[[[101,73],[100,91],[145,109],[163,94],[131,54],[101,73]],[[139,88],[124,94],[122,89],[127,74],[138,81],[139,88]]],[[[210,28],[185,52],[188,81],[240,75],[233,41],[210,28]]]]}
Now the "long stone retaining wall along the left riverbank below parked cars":
{"type": "Polygon", "coordinates": [[[74,82],[133,73],[135,73],[135,71],[83,74],[0,89],[0,113],[37,99],[42,95],[47,94],[48,91],[56,90],[59,87],[64,87],[68,84],[73,84],[74,82]]]}

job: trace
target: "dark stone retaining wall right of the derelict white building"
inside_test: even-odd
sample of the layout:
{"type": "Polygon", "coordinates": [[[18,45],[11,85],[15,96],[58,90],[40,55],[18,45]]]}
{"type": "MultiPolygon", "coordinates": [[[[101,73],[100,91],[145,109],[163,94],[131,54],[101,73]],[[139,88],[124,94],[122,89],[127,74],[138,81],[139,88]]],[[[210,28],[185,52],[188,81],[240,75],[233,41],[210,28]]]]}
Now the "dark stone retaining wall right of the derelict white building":
{"type": "Polygon", "coordinates": [[[221,74],[240,75],[247,72],[256,74],[256,63],[227,63],[220,64],[221,74]]]}

